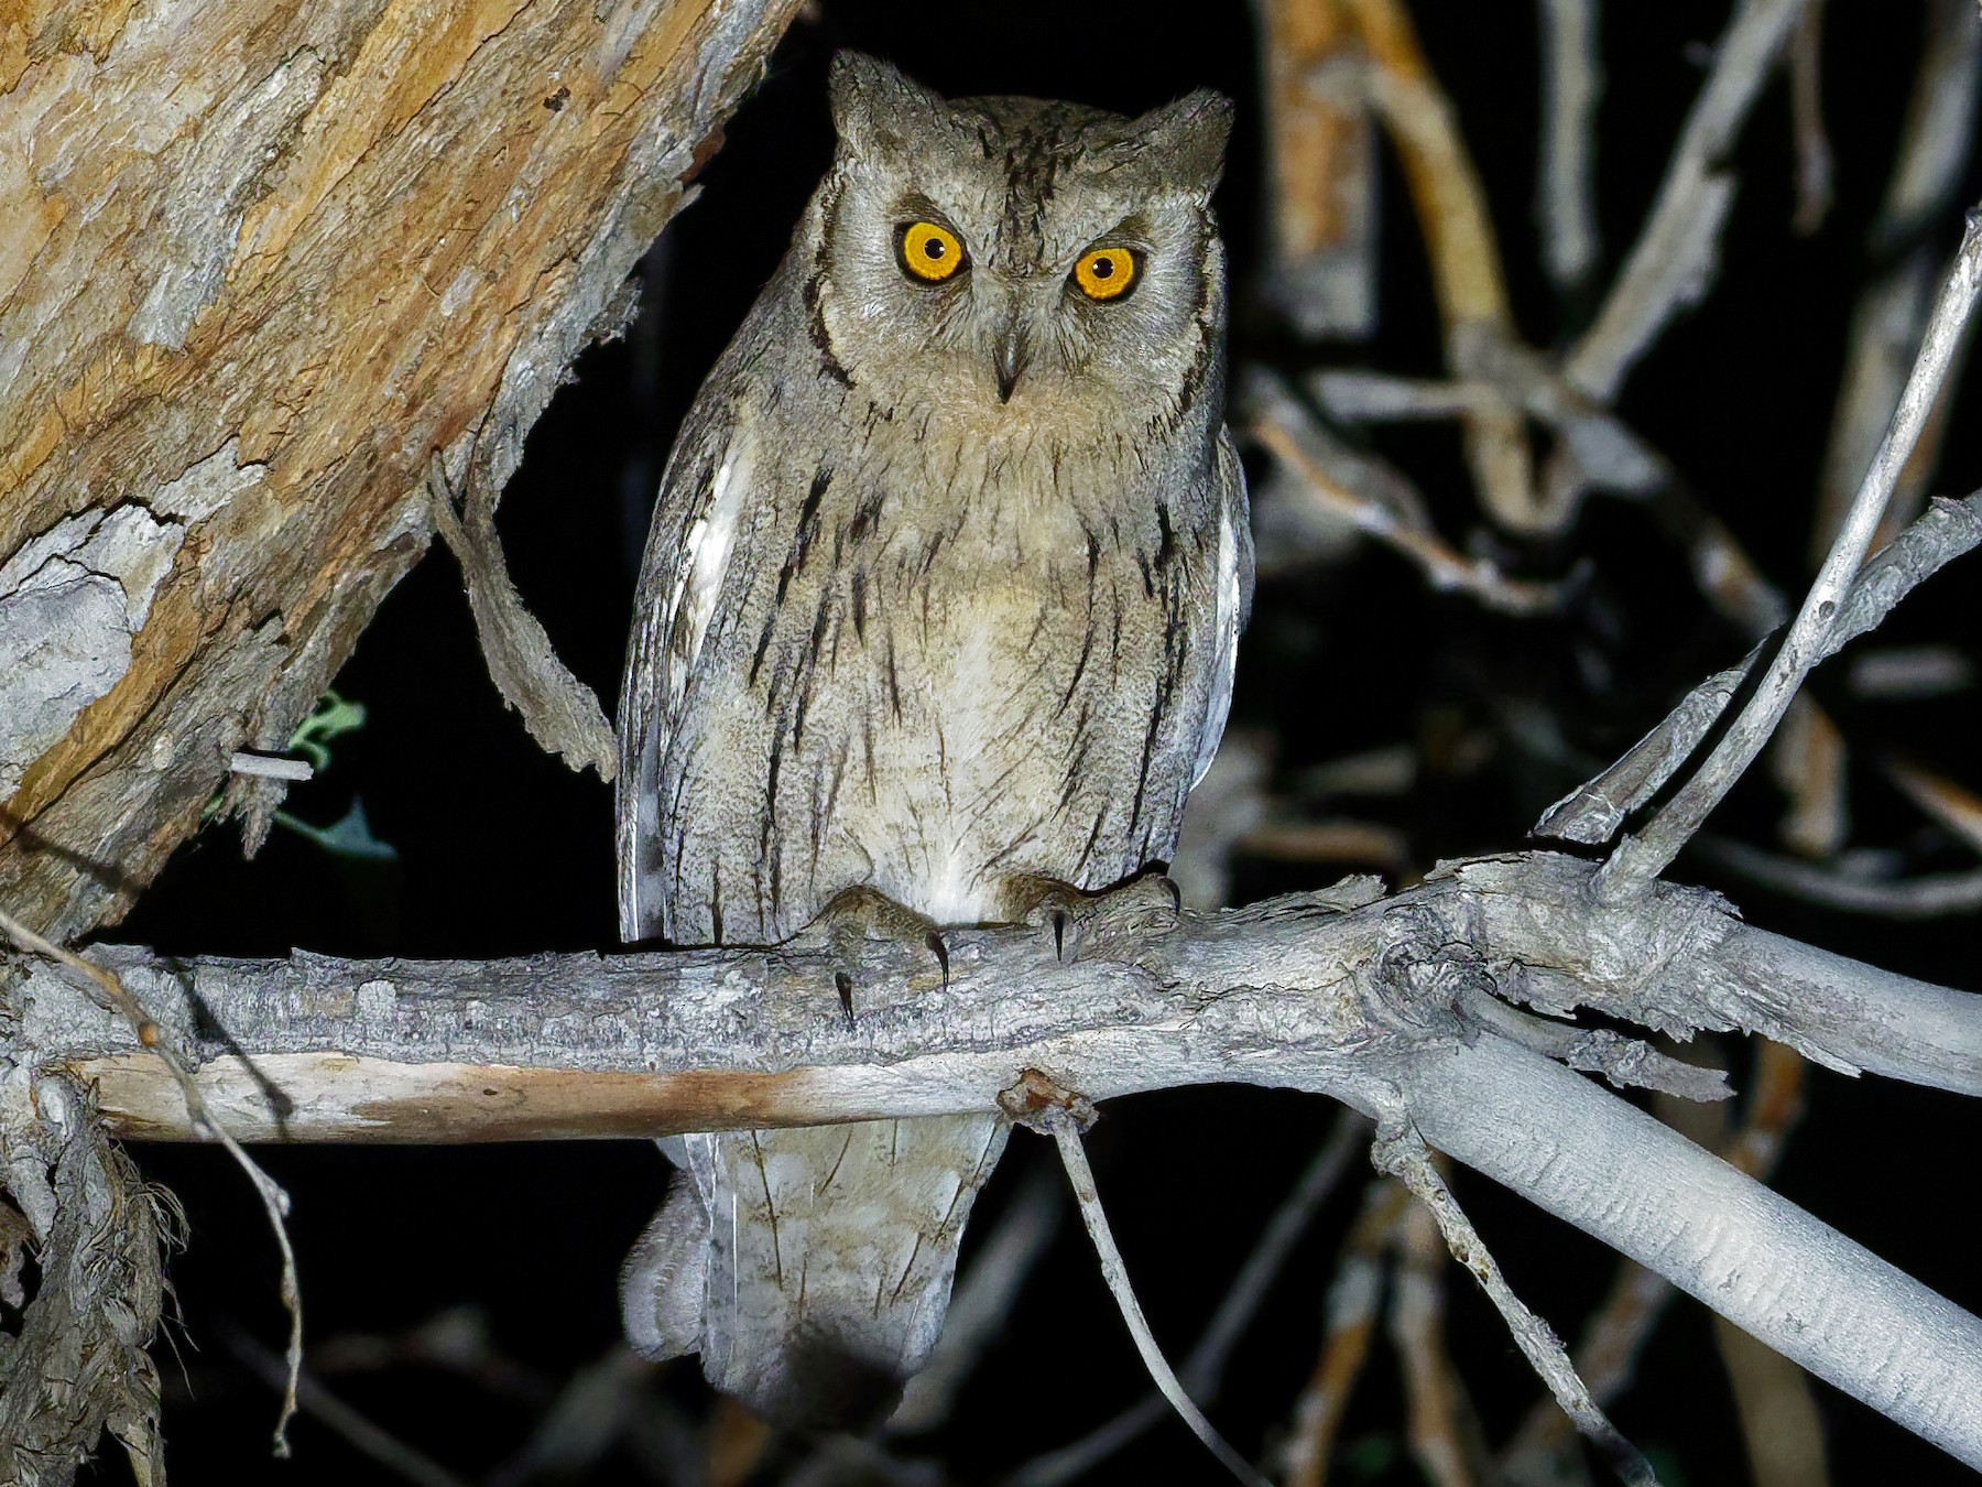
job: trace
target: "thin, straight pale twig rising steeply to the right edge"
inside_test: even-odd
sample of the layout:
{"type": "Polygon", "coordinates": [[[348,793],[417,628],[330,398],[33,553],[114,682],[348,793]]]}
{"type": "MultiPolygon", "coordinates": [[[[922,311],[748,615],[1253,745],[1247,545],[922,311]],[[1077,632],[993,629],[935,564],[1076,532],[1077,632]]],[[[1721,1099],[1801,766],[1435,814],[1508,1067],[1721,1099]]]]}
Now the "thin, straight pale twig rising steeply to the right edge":
{"type": "Polygon", "coordinates": [[[1913,371],[1907,375],[1893,424],[1879,442],[1879,452],[1859,484],[1859,494],[1845,514],[1823,567],[1817,569],[1810,593],[1804,595],[1802,609],[1790,621],[1782,646],[1705,763],[1637,837],[1627,837],[1611,853],[1603,866],[1607,894],[1637,892],[1671,866],[1693,833],[1701,829],[1701,823],[1768,744],[1790,700],[1804,684],[1804,676],[1823,658],[1823,646],[1837,629],[1837,611],[1865,563],[1865,553],[1871,551],[1873,535],[1885,517],[1899,474],[1913,456],[1913,446],[1940,397],[1978,289],[1982,289],[1982,210],[1972,210],[1962,232],[1960,252],[1954,254],[1954,266],[1948,270],[1946,284],[1927,321],[1927,337],[1913,371]]]}

